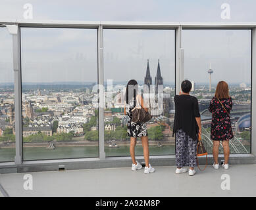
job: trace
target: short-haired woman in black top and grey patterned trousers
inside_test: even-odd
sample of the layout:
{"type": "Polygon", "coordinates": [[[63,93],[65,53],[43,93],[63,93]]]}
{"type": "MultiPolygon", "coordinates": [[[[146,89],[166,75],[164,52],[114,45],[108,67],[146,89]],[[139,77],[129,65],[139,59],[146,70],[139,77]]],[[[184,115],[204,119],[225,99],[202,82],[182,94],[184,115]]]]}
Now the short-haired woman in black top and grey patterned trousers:
{"type": "Polygon", "coordinates": [[[189,175],[195,175],[198,134],[201,133],[201,117],[197,98],[190,96],[192,84],[182,81],[182,92],[174,96],[175,119],[173,133],[176,137],[176,173],[184,173],[190,166],[189,175]]]}

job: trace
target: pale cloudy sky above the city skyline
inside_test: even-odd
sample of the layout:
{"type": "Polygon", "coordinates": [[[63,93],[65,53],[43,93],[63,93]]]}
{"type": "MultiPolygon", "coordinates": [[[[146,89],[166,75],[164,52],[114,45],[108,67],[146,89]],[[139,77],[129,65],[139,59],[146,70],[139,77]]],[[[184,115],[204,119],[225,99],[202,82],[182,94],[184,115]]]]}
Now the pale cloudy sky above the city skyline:
{"type": "MultiPolygon", "coordinates": [[[[256,22],[255,0],[1,0],[1,19],[21,19],[33,6],[34,20],[256,22]],[[221,5],[230,5],[230,19],[221,18],[221,5]]],[[[182,34],[185,77],[196,83],[250,81],[250,31],[187,30],[182,34]]],[[[13,81],[12,39],[0,28],[0,82],[13,81]]],[[[22,81],[96,81],[95,30],[22,29],[22,81]]],[[[105,79],[143,80],[147,59],[154,81],[157,61],[166,82],[174,81],[174,31],[104,31],[105,79]]]]}

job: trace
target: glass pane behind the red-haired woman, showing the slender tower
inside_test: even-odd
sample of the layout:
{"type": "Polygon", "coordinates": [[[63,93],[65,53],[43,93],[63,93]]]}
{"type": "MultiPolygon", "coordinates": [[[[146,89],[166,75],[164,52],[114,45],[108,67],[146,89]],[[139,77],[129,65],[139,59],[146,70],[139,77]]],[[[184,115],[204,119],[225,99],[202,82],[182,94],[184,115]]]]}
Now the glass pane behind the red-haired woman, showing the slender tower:
{"type": "MultiPolygon", "coordinates": [[[[229,85],[233,108],[230,114],[234,138],[231,154],[251,152],[251,30],[184,30],[185,78],[193,83],[199,99],[203,140],[212,152],[209,102],[218,81],[229,85]]],[[[220,152],[223,152],[220,146],[220,152]]]]}

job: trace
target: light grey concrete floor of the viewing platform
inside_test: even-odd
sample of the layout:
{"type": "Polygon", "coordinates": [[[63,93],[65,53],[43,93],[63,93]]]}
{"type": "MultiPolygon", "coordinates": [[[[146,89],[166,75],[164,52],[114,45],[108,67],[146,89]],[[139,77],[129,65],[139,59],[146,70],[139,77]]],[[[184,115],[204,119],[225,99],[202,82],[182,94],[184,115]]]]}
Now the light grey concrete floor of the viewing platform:
{"type": "Polygon", "coordinates": [[[256,165],[209,166],[194,177],[176,175],[175,167],[155,169],[149,175],[130,168],[30,173],[33,190],[24,190],[26,173],[4,174],[0,184],[9,196],[256,196],[256,165]],[[230,177],[230,190],[222,190],[222,175],[230,177]]]}

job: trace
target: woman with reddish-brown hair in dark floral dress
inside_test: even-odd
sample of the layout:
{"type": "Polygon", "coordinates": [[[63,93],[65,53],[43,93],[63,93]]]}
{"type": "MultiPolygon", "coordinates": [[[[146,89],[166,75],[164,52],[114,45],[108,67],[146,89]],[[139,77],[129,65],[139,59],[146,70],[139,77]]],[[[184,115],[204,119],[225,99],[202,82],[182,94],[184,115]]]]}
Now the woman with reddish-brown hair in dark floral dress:
{"type": "Polygon", "coordinates": [[[218,169],[218,148],[220,141],[224,150],[224,163],[222,167],[228,169],[228,159],[230,154],[229,140],[232,139],[233,132],[230,121],[230,111],[232,109],[232,98],[228,93],[228,84],[220,81],[217,85],[215,96],[212,98],[209,111],[213,114],[211,122],[211,139],[213,140],[213,167],[218,169]]]}

